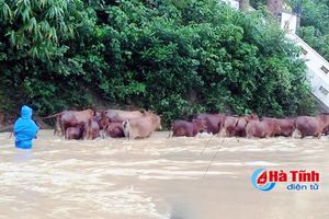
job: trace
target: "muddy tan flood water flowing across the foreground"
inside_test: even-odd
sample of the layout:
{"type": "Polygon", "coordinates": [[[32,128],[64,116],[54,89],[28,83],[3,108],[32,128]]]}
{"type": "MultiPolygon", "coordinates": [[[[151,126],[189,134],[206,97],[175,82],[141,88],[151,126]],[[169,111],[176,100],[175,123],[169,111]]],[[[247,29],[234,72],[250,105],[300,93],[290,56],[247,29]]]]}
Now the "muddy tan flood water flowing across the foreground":
{"type": "Polygon", "coordinates": [[[172,138],[68,141],[32,150],[0,134],[0,219],[328,219],[329,139],[172,138]],[[222,143],[223,142],[223,143],[222,143]],[[219,152],[207,169],[218,147],[219,152]],[[319,191],[256,189],[256,169],[315,170],[319,191]]]}

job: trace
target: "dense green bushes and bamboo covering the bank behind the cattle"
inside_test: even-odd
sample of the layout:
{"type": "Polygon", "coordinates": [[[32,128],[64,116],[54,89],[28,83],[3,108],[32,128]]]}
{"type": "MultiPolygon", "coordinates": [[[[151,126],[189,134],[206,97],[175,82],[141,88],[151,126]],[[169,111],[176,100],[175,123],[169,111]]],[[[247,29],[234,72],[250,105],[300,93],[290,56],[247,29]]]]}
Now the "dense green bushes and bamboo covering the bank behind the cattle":
{"type": "Polygon", "coordinates": [[[298,54],[261,12],[217,0],[0,0],[0,110],[309,113],[298,54]]]}

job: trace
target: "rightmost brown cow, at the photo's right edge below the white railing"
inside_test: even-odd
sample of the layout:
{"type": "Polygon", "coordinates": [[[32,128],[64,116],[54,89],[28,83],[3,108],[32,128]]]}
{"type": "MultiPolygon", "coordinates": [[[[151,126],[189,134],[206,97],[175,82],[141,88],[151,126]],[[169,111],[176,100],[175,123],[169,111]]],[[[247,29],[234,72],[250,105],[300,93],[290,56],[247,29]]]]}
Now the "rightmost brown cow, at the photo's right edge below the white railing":
{"type": "Polygon", "coordinates": [[[298,116],[295,122],[296,130],[302,138],[314,136],[320,138],[325,128],[329,125],[329,115],[320,114],[316,117],[298,116]]]}

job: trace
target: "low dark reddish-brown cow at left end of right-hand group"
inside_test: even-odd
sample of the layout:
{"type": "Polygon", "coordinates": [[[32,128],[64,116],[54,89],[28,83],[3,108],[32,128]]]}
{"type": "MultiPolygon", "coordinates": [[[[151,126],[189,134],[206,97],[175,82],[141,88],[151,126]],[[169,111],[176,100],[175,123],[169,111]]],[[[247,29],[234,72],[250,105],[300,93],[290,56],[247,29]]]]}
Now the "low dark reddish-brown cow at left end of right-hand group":
{"type": "Polygon", "coordinates": [[[201,130],[206,130],[206,122],[204,119],[193,119],[192,123],[186,120],[175,120],[171,125],[172,136],[194,137],[201,130]]]}

